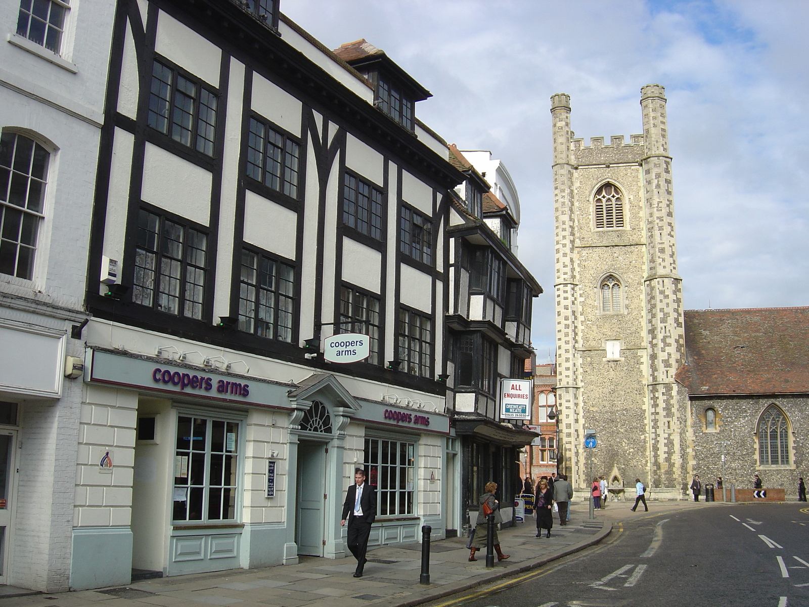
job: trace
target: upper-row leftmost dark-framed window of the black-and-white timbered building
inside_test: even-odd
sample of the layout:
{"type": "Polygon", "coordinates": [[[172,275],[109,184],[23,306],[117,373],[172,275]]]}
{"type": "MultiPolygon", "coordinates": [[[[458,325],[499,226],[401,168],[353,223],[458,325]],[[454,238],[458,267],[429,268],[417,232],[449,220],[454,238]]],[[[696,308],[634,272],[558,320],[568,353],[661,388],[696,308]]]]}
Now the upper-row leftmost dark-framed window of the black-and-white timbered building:
{"type": "Polygon", "coordinates": [[[163,63],[152,65],[149,126],[176,142],[214,155],[218,96],[163,63]]]}

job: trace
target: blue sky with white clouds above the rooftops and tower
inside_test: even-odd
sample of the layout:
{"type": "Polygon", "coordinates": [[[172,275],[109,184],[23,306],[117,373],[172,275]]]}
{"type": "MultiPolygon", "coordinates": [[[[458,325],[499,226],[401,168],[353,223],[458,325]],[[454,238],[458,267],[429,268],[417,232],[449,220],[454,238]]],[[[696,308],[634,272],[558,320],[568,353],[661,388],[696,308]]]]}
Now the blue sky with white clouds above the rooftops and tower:
{"type": "Polygon", "coordinates": [[[550,96],[576,137],[642,133],[666,87],[684,307],[809,305],[809,2],[282,0],[334,49],[365,38],[433,97],[416,115],[490,150],[519,191],[537,362],[555,351],[550,96]]]}

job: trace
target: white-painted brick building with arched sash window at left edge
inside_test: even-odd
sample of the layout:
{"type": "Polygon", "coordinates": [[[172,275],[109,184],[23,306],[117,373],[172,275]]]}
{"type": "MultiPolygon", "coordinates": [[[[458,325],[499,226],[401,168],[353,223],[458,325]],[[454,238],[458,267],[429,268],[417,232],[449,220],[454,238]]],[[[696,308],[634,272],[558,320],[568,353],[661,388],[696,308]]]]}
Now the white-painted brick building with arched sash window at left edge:
{"type": "Polygon", "coordinates": [[[0,6],[0,584],[45,592],[70,584],[83,386],[66,357],[83,360],[114,12],[74,4],[0,6]]]}

